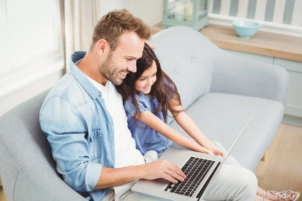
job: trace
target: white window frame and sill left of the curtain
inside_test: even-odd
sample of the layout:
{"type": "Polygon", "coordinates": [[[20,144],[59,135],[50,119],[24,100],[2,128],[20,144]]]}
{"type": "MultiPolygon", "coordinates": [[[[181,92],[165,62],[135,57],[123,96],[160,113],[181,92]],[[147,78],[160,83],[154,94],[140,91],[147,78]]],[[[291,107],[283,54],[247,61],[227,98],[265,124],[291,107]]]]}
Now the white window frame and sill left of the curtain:
{"type": "MultiPolygon", "coordinates": [[[[4,12],[5,22],[7,22],[7,1],[0,0],[4,12]]],[[[54,49],[43,52],[26,63],[12,67],[10,70],[0,73],[0,98],[8,93],[23,87],[39,78],[47,76],[55,71],[63,70],[65,67],[62,32],[61,32],[61,18],[59,0],[54,2],[54,49]],[[57,23],[56,23],[57,22],[57,23]]],[[[6,24],[6,29],[8,25],[6,24]]]]}

